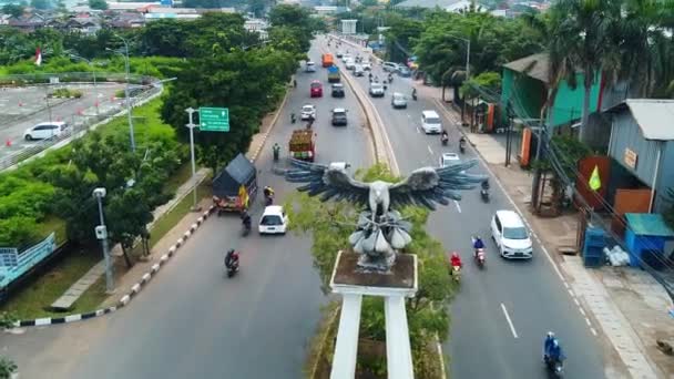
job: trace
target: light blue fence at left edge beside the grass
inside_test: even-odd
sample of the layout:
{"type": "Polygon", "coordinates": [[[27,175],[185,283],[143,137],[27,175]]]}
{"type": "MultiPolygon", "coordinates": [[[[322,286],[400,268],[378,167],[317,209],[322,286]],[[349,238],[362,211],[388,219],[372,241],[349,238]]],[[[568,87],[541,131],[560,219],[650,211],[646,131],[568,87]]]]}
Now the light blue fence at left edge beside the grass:
{"type": "Polygon", "coordinates": [[[57,249],[55,233],[41,243],[19,253],[18,248],[0,247],[0,289],[28,273],[57,249]]]}

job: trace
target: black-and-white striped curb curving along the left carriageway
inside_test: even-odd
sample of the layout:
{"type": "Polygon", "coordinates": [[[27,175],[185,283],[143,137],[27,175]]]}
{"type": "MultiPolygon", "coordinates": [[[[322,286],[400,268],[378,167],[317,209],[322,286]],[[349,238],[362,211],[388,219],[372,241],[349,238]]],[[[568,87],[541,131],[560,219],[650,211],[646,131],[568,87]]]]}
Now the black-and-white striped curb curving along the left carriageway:
{"type": "Polygon", "coordinates": [[[175,244],[173,246],[171,246],[168,248],[168,250],[160,257],[160,260],[157,263],[155,263],[154,265],[152,265],[152,267],[150,268],[149,272],[143,274],[143,276],[141,277],[141,280],[136,281],[136,284],[131,286],[131,290],[129,293],[126,293],[124,296],[122,296],[122,298],[118,301],[116,306],[112,306],[112,307],[108,307],[108,308],[103,308],[103,309],[96,309],[96,310],[84,313],[84,314],[68,315],[68,316],[63,316],[63,317],[44,317],[44,318],[35,318],[35,319],[31,319],[31,320],[19,320],[19,321],[14,322],[14,328],[69,324],[69,322],[74,322],[74,321],[80,321],[80,320],[86,320],[90,318],[95,318],[95,317],[100,317],[103,315],[112,314],[112,313],[116,311],[118,309],[125,307],[143,289],[143,286],[145,286],[147,283],[150,283],[150,279],[152,279],[152,277],[155,276],[160,272],[162,266],[164,266],[168,262],[168,259],[171,259],[171,257],[173,257],[177,253],[177,250],[181,248],[181,246],[185,245],[187,239],[198,229],[198,227],[206,222],[208,216],[213,213],[214,208],[215,208],[215,206],[212,205],[207,211],[205,211],[203,213],[203,215],[201,217],[198,217],[196,219],[196,222],[190,226],[190,229],[187,229],[183,234],[183,236],[180,237],[175,242],[175,244]]]}

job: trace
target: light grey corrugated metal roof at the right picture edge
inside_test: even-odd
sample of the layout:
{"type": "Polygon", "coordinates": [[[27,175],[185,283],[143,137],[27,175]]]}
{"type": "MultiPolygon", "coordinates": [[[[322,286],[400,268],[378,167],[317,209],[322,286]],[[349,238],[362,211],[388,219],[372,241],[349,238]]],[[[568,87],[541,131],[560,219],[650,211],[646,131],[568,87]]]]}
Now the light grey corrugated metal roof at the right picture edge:
{"type": "Polygon", "coordinates": [[[674,140],[674,100],[627,99],[632,116],[646,140],[674,140]]]}

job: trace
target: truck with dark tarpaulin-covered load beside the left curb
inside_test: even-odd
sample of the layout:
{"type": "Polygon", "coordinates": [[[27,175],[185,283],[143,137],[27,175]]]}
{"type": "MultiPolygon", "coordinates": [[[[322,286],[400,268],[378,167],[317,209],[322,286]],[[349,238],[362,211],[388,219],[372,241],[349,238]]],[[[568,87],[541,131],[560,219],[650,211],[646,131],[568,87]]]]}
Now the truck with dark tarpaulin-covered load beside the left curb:
{"type": "Polygon", "coordinates": [[[213,180],[213,204],[218,215],[246,209],[256,194],[257,170],[243,154],[232,160],[213,180]]]}

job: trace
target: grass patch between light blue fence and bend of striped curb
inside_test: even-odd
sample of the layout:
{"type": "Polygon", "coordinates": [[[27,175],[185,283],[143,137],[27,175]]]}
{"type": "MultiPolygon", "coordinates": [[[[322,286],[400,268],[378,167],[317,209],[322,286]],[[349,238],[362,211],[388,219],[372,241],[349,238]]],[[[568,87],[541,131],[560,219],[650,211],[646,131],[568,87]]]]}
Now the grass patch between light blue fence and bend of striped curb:
{"type": "MultiPolygon", "coordinates": [[[[63,293],[84,273],[98,264],[103,254],[72,252],[62,257],[48,273],[29,283],[25,288],[14,293],[7,303],[0,307],[0,311],[10,311],[21,319],[37,317],[62,316],[49,309],[63,293]]],[[[103,297],[104,298],[104,297],[103,297]]],[[[103,300],[92,300],[99,304],[103,300]]],[[[75,304],[76,309],[83,307],[80,301],[75,304]]],[[[90,304],[86,304],[90,306],[90,304]]],[[[91,309],[86,309],[91,310],[91,309]]]]}

